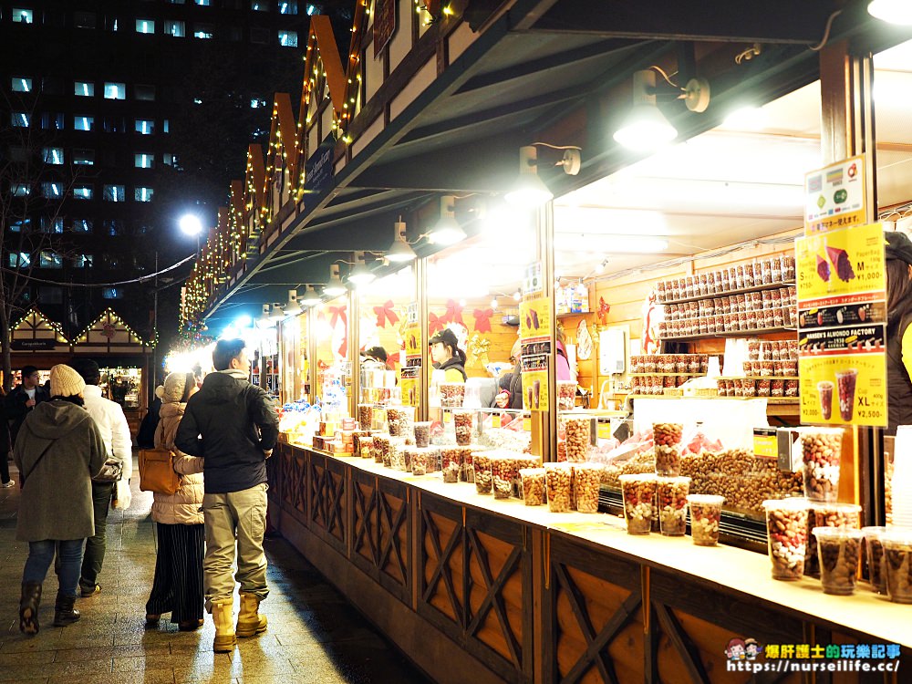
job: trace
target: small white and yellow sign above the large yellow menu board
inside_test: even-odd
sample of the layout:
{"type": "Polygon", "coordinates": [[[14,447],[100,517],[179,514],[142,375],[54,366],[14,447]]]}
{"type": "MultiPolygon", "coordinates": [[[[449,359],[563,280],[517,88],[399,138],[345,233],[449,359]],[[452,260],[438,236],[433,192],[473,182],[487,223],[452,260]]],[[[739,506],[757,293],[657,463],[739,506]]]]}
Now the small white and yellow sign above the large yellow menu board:
{"type": "Polygon", "coordinates": [[[865,223],[865,159],[850,157],[804,175],[804,234],[865,223]]]}

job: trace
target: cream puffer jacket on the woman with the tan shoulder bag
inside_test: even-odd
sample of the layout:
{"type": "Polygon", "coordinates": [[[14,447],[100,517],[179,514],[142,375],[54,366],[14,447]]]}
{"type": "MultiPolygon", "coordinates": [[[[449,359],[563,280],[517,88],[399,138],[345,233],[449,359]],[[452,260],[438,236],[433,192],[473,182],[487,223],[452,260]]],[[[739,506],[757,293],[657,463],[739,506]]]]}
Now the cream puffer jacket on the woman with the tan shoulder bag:
{"type": "Polygon", "coordinates": [[[181,475],[181,489],[173,494],[153,492],[152,520],[168,525],[202,524],[202,459],[188,456],[174,446],[174,435],[181,424],[186,404],[171,402],[161,404],[159,425],[155,429],[155,446],[170,449],[177,458],[174,470],[181,475]]]}

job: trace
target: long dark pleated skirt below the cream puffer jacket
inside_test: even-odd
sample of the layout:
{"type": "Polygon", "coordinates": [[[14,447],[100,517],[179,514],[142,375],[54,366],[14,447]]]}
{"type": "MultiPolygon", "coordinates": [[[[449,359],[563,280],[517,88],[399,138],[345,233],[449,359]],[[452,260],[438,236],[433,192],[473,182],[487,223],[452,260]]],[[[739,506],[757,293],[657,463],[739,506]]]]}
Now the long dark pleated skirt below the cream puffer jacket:
{"type": "Polygon", "coordinates": [[[155,525],[159,554],[146,613],[171,613],[171,622],[202,619],[205,525],[155,525]]]}

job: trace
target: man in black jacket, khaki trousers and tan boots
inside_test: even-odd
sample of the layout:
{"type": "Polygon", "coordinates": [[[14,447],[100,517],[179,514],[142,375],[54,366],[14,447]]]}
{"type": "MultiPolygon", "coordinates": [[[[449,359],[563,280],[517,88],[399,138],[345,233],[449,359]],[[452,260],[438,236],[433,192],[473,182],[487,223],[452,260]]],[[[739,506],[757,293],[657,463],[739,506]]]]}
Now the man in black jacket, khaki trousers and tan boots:
{"type": "Polygon", "coordinates": [[[202,564],[206,608],[215,623],[216,652],[234,648],[232,624],[234,545],[241,583],[238,637],[266,628],[258,608],[268,594],[263,533],[266,459],[278,438],[278,413],[263,389],[252,385],[244,340],[220,339],[202,389],[187,402],[174,445],[204,460],[206,558],[202,564]]]}

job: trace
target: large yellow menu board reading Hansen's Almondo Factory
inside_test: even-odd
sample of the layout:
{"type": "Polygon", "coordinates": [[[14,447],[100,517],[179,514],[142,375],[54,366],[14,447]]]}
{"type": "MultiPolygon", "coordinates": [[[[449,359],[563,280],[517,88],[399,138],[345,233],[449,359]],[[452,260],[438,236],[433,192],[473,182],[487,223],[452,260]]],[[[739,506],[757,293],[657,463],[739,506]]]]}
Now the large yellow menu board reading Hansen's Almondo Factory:
{"type": "Polygon", "coordinates": [[[795,244],[803,423],[886,426],[886,261],[880,223],[795,244]]]}

